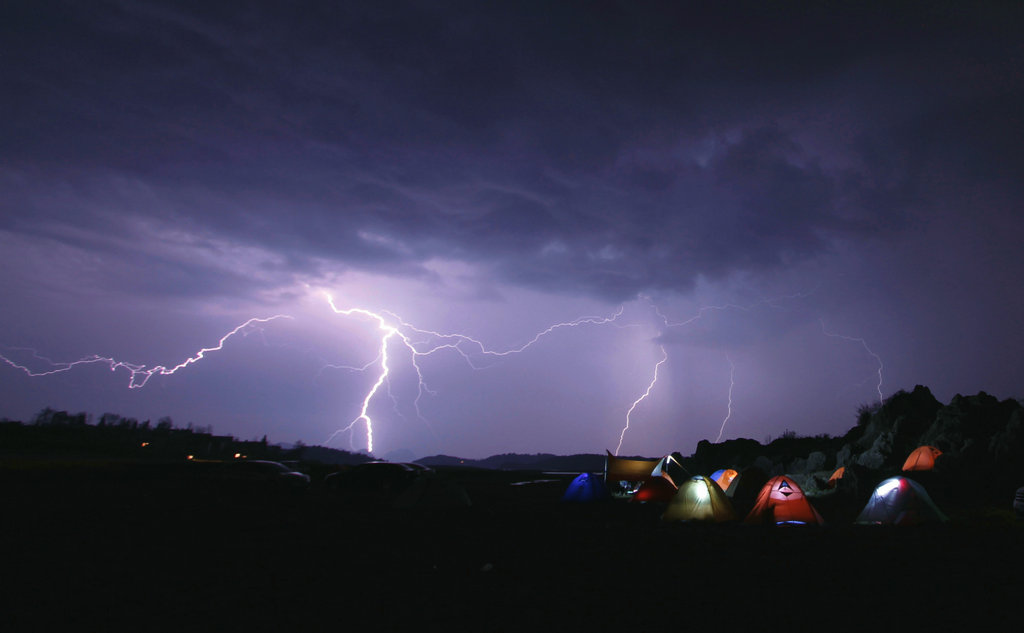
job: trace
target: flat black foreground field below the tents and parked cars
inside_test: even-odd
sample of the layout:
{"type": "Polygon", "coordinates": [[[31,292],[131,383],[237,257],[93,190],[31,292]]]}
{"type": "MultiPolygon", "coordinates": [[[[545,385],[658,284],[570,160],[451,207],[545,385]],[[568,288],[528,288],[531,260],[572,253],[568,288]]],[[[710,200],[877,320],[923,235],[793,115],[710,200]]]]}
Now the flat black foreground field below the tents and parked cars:
{"type": "MultiPolygon", "coordinates": [[[[1024,525],[664,524],[567,477],[451,471],[460,510],[227,494],[158,468],[2,470],[6,631],[1016,629],[1024,525]]],[[[942,504],[940,504],[942,505],[942,504]]],[[[819,508],[829,519],[825,508],[819,508]]]]}

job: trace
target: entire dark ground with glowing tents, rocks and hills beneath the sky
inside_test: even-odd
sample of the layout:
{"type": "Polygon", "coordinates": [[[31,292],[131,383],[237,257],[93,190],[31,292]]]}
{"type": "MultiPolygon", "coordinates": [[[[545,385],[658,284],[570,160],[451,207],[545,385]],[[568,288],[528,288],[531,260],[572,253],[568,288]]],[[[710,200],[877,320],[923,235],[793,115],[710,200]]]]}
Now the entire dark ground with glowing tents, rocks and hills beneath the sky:
{"type": "Polygon", "coordinates": [[[1015,512],[1022,412],[984,393],[943,406],[919,387],[864,412],[838,438],[700,442],[685,457],[254,470],[270,479],[241,478],[245,469],[227,467],[244,458],[231,453],[239,444],[191,430],[59,415],[6,423],[4,446],[23,450],[0,462],[12,581],[5,622],[9,630],[1012,626],[1024,589],[1024,518],[1015,512]],[[147,439],[129,447],[124,438],[138,433],[147,439]],[[104,445],[90,437],[135,457],[99,455],[104,445]],[[173,457],[193,441],[225,456],[173,457]],[[920,454],[929,466],[909,460],[920,454]],[[357,483],[372,472],[387,475],[357,483]],[[408,477],[415,486],[394,483],[408,477]]]}

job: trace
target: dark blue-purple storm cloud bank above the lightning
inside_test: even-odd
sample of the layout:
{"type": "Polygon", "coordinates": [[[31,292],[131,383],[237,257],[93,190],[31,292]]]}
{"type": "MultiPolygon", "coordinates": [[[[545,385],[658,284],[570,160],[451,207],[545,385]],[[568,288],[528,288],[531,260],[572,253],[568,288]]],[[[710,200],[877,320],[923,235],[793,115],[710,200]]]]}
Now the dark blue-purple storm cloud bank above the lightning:
{"type": "Polygon", "coordinates": [[[622,299],[904,230],[936,178],[1017,186],[1019,10],[742,8],[15,3],[4,227],[101,210],[275,253],[267,285],[439,257],[622,299]]]}

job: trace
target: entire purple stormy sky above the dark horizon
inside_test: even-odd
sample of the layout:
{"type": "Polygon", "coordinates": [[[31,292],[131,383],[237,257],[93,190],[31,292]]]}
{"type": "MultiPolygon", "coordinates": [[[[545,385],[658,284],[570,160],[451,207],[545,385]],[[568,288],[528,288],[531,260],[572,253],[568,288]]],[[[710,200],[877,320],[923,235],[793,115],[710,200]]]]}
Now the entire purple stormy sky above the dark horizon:
{"type": "Polygon", "coordinates": [[[890,4],[4,3],[0,416],[657,456],[1020,397],[1024,8],[890,4]]]}

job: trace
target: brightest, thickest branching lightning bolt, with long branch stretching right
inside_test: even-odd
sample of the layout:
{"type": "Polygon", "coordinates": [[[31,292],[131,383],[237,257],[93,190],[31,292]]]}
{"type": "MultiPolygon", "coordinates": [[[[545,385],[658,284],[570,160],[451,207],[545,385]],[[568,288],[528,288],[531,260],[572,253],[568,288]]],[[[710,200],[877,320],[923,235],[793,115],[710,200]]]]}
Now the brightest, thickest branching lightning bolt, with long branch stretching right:
{"type": "Polygon", "coordinates": [[[377,380],[370,387],[370,390],[366,393],[366,395],[362,398],[362,406],[359,409],[359,415],[356,416],[355,419],[353,419],[351,422],[349,422],[348,425],[336,430],[327,438],[327,442],[330,442],[339,433],[350,431],[355,427],[356,424],[362,423],[367,429],[367,451],[370,453],[373,453],[374,450],[373,419],[370,417],[370,405],[373,403],[374,396],[377,395],[381,386],[388,381],[388,378],[390,376],[391,368],[388,366],[387,348],[388,348],[388,343],[393,339],[397,338],[398,340],[400,340],[401,344],[404,345],[406,348],[409,349],[410,351],[413,368],[416,370],[416,376],[418,379],[417,382],[418,392],[416,395],[416,399],[414,400],[414,406],[416,408],[416,413],[420,417],[420,419],[425,420],[423,418],[423,415],[420,413],[420,399],[422,398],[424,391],[428,393],[432,392],[427,387],[426,381],[423,377],[423,371],[418,363],[418,358],[420,356],[430,355],[442,349],[451,349],[456,353],[460,354],[466,361],[467,365],[469,365],[471,368],[481,369],[480,367],[478,367],[473,363],[473,357],[471,355],[471,352],[469,350],[464,349],[464,346],[469,345],[471,346],[471,348],[473,348],[473,353],[485,356],[497,357],[497,356],[507,356],[510,354],[516,354],[525,351],[527,348],[529,348],[535,343],[540,341],[544,336],[551,334],[555,330],[558,330],[560,328],[569,328],[582,325],[605,325],[608,323],[612,323],[622,315],[623,310],[625,309],[624,307],[620,307],[618,310],[616,310],[611,316],[581,316],[580,319],[577,319],[574,321],[558,323],[538,333],[529,341],[518,347],[513,347],[510,349],[506,349],[504,351],[497,351],[494,349],[488,349],[486,345],[484,345],[481,341],[466,334],[459,334],[459,333],[445,334],[442,332],[435,332],[432,330],[422,330],[420,328],[413,326],[412,324],[404,322],[400,316],[398,316],[394,312],[382,310],[384,314],[388,315],[391,320],[393,320],[393,322],[398,324],[397,326],[390,325],[388,323],[388,320],[385,319],[383,315],[365,308],[353,307],[348,309],[340,309],[335,304],[334,298],[330,294],[327,295],[327,300],[328,303],[331,305],[331,309],[333,309],[336,314],[341,314],[345,316],[351,316],[351,315],[366,316],[368,319],[377,322],[378,328],[383,333],[381,337],[380,352],[375,361],[372,361],[371,363],[365,365],[362,368],[346,367],[346,369],[359,369],[360,371],[362,371],[369,369],[370,367],[375,365],[378,361],[380,362],[380,373],[377,376],[377,380]],[[427,340],[414,341],[411,337],[411,334],[407,334],[403,330],[408,331],[411,334],[426,336],[427,340]],[[431,343],[431,339],[439,340],[440,342],[431,343]]]}

